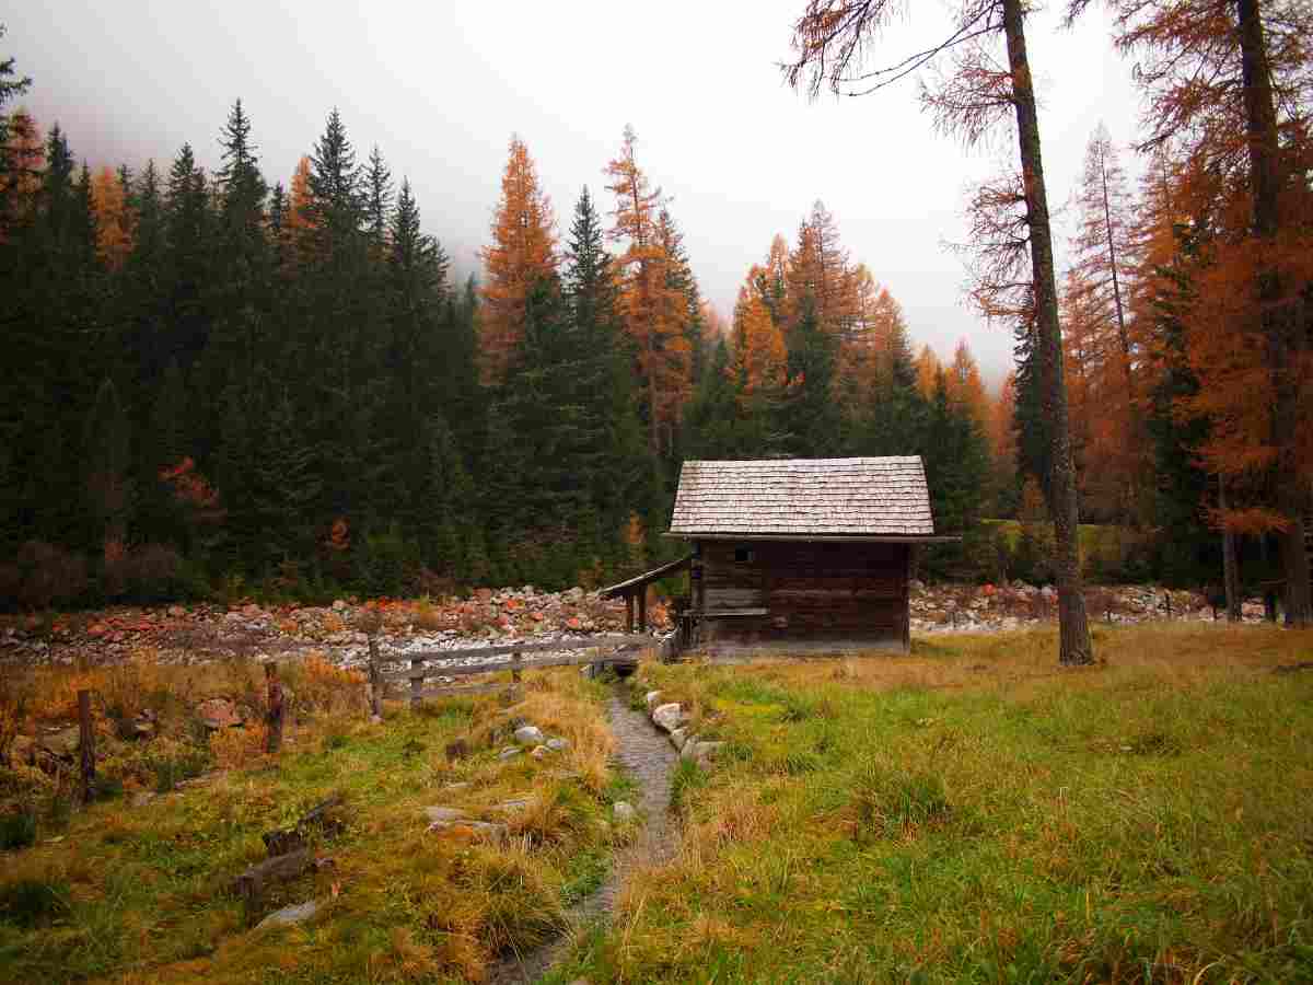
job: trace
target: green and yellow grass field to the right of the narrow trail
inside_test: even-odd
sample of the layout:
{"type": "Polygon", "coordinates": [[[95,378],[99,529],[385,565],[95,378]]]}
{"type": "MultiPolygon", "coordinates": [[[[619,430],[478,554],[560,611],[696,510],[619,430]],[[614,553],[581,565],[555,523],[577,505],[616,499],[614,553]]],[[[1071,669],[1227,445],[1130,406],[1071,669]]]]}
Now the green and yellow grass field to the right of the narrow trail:
{"type": "Polygon", "coordinates": [[[1313,980],[1313,634],[1098,645],[650,668],[726,755],[554,981],[1313,980]]]}

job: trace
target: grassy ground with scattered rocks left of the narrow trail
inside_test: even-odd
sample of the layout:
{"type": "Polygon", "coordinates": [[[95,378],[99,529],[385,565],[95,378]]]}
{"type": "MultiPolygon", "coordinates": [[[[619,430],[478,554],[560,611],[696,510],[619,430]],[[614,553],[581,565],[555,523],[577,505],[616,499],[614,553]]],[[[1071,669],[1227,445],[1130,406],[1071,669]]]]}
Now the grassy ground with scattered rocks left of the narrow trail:
{"type": "Polygon", "coordinates": [[[207,785],[42,818],[34,847],[0,854],[0,981],[478,981],[498,952],[554,935],[628,837],[607,822],[625,785],[608,766],[601,686],[571,670],[533,676],[509,709],[487,697],[398,708],[381,725],[311,716],[280,756],[248,754],[207,785]],[[499,762],[519,718],[570,749],[499,762]],[[471,755],[452,764],[457,735],[471,755]],[[235,898],[231,880],[264,858],[260,835],[331,793],[345,797],[345,830],[314,841],[331,865],[257,906],[235,898]],[[529,806],[498,810],[513,797],[529,806]],[[508,844],[427,833],[427,805],[503,821],[508,844]],[[311,898],[326,906],[309,923],[252,929],[311,898]]]}

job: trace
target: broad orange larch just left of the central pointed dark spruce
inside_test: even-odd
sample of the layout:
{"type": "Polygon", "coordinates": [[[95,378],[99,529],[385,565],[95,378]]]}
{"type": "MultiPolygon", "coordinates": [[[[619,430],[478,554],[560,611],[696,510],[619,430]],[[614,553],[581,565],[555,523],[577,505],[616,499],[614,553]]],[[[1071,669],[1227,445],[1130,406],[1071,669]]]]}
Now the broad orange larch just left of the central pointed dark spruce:
{"type": "Polygon", "coordinates": [[[557,276],[557,221],[538,185],[528,147],[511,138],[502,197],[492,218],[492,244],[483,248],[487,280],[479,313],[479,355],[484,383],[502,382],[524,343],[529,297],[557,276]]]}

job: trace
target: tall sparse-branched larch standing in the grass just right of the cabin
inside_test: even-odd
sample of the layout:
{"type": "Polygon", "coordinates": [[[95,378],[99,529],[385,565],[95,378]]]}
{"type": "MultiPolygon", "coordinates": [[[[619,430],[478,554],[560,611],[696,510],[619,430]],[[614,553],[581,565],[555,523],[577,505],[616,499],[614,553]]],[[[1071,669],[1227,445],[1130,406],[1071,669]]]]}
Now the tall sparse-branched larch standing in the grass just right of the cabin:
{"type": "Polygon", "coordinates": [[[902,14],[898,0],[809,0],[793,25],[796,58],[783,66],[785,79],[857,96],[885,88],[922,68],[948,63],[920,98],[939,129],[976,144],[997,126],[1015,125],[1024,198],[1036,352],[1044,366],[1044,410],[1052,422],[1048,504],[1057,541],[1058,661],[1064,666],[1094,661],[1077,540],[1075,471],[1067,429],[1058,323],[1053,234],[1040,146],[1039,112],[1025,43],[1024,0],[961,0],[947,37],[926,51],[868,68],[867,55],[884,30],[902,14]]]}

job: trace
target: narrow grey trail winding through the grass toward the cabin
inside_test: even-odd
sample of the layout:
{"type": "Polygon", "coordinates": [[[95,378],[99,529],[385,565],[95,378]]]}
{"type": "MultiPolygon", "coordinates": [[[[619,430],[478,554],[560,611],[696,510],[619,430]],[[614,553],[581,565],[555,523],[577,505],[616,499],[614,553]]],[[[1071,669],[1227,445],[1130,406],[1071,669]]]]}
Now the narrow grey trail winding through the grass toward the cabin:
{"type": "Polygon", "coordinates": [[[642,865],[666,862],[675,855],[679,831],[670,816],[670,779],[679,754],[643,712],[629,707],[622,684],[611,692],[607,712],[616,737],[614,762],[638,784],[634,804],[645,823],[633,843],[616,852],[607,880],[567,913],[570,929],[524,955],[506,957],[488,969],[490,985],[530,985],[538,981],[570,947],[574,935],[609,917],[629,873],[642,865]]]}

